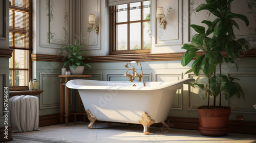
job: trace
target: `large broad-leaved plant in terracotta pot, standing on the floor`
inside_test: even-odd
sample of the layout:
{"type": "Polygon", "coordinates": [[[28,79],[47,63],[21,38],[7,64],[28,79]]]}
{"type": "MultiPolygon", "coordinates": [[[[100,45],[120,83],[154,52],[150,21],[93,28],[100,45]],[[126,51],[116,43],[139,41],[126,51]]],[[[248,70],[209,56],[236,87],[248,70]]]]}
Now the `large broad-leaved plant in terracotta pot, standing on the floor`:
{"type": "Polygon", "coordinates": [[[228,100],[232,96],[238,98],[245,94],[236,78],[227,77],[221,73],[221,64],[236,64],[238,70],[237,58],[241,51],[246,52],[250,47],[246,39],[236,39],[233,33],[233,27],[239,29],[239,25],[233,18],[243,20],[246,26],[249,21],[246,16],[232,13],[229,11],[228,5],[232,0],[206,0],[206,4],[201,4],[196,11],[208,10],[211,14],[217,16],[213,21],[203,20],[208,29],[198,25],[190,25],[198,34],[195,34],[191,40],[191,44],[183,44],[185,49],[181,64],[186,66],[195,58],[191,69],[185,74],[194,73],[200,76],[203,73],[208,78],[208,83],[203,84],[196,82],[187,83],[193,87],[199,86],[205,91],[205,97],[208,94],[208,105],[201,106],[197,109],[199,113],[200,133],[208,136],[223,136],[227,134],[228,117],[230,115],[230,107],[221,106],[221,93],[228,100]],[[213,34],[212,34],[213,33],[213,34]],[[211,34],[211,35],[210,35],[211,34]],[[197,51],[203,51],[204,54],[197,56],[197,51]],[[227,53],[227,54],[224,54],[227,53]],[[216,67],[220,68],[219,74],[216,74],[216,67]],[[209,104],[209,97],[213,97],[213,105],[209,104]],[[220,97],[219,105],[216,104],[216,98],[220,97]]]}

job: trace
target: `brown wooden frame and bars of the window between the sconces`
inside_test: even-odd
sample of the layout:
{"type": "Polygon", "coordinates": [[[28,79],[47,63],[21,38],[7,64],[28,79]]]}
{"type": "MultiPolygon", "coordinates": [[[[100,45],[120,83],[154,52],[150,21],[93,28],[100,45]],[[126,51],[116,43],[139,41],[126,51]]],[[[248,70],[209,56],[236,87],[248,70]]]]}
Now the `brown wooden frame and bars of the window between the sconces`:
{"type": "Polygon", "coordinates": [[[143,2],[140,8],[140,20],[130,21],[130,4],[127,4],[127,21],[117,22],[117,6],[110,7],[110,54],[138,54],[150,53],[151,49],[143,49],[143,22],[151,21],[151,19],[143,19],[143,2]],[[130,50],[130,24],[139,23],[141,25],[141,42],[140,50],[130,50]],[[117,26],[127,24],[127,50],[117,50],[117,26]]]}

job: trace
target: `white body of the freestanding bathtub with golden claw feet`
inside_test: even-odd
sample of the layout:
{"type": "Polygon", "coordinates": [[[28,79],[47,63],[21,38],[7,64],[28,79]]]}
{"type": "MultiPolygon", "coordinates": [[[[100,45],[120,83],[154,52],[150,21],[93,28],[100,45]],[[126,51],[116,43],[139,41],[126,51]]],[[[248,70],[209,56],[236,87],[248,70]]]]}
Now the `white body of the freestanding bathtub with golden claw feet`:
{"type": "Polygon", "coordinates": [[[143,82],[70,80],[66,86],[78,89],[84,109],[97,120],[139,124],[144,112],[155,123],[164,122],[177,89],[189,81],[195,79],[145,82],[145,86],[143,82]]]}

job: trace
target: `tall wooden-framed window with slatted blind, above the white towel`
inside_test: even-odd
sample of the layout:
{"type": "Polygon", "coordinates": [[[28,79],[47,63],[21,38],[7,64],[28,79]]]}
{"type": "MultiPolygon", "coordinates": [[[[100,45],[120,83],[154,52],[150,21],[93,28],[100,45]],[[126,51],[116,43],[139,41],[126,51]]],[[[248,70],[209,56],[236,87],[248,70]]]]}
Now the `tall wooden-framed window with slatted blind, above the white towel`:
{"type": "Polygon", "coordinates": [[[30,54],[32,50],[32,0],[10,0],[9,59],[10,90],[28,90],[31,77],[30,54]]]}

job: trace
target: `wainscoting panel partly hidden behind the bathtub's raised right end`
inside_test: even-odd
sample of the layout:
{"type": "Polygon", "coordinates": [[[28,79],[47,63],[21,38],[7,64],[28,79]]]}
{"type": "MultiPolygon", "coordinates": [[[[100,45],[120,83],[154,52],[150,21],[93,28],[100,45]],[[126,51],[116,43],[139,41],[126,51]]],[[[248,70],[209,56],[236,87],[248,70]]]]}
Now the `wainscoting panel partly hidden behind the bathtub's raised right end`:
{"type": "MultiPolygon", "coordinates": [[[[178,81],[183,79],[183,74],[155,74],[156,81],[178,81]]],[[[177,90],[172,108],[174,110],[183,110],[183,87],[177,90]]]]}

